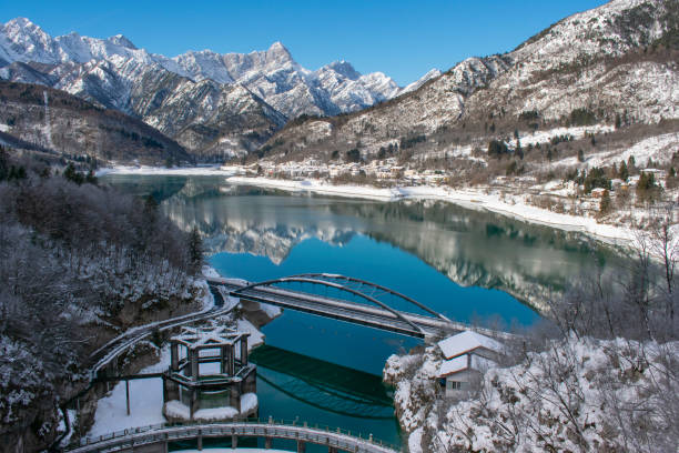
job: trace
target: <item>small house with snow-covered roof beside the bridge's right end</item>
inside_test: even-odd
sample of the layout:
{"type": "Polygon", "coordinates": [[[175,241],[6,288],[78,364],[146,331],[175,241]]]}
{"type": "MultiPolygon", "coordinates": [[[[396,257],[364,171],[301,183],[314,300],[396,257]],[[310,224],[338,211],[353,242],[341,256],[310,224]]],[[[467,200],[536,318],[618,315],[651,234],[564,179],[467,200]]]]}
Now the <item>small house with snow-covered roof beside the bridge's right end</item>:
{"type": "Polygon", "coordinates": [[[438,348],[446,359],[437,374],[446,396],[463,396],[505,351],[500,342],[472,331],[442,340],[438,348]]]}

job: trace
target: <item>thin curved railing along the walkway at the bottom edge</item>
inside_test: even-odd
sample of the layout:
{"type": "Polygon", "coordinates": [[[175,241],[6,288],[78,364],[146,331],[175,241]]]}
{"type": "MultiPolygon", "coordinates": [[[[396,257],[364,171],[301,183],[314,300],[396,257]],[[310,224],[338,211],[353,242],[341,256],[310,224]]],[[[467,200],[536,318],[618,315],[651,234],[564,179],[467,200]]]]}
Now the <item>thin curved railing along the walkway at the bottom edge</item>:
{"type": "MultiPolygon", "coordinates": [[[[397,452],[401,449],[397,445],[383,442],[379,439],[373,437],[372,434],[365,435],[365,433],[361,432],[352,432],[351,430],[345,430],[342,427],[333,427],[325,424],[318,423],[307,423],[301,422],[300,420],[261,420],[261,419],[244,419],[244,420],[234,420],[233,422],[188,422],[188,423],[158,423],[146,426],[138,426],[130,427],[126,430],[114,431],[111,433],[102,434],[99,436],[87,436],[82,437],[78,444],[78,446],[67,449],[67,452],[72,451],[81,451],[83,447],[87,451],[88,446],[95,447],[98,444],[114,442],[120,440],[121,443],[124,442],[125,439],[136,437],[138,435],[148,434],[148,436],[153,436],[154,432],[158,432],[158,441],[173,441],[181,440],[186,437],[197,437],[197,436],[231,436],[231,435],[240,435],[240,436],[253,436],[253,437],[290,437],[291,429],[303,429],[308,430],[305,435],[305,441],[312,443],[327,444],[331,442],[328,435],[331,436],[347,436],[354,437],[357,442],[364,442],[366,444],[372,444],[374,446],[383,447],[385,451],[394,451],[397,452]],[[242,429],[243,425],[246,425],[245,429],[242,429]],[[239,429],[236,429],[239,427],[239,429]],[[181,431],[181,434],[179,433],[181,431]],[[287,435],[286,435],[287,434],[287,435]]],[[[300,437],[301,439],[301,437],[300,437]]],[[[341,442],[335,439],[334,442],[331,442],[333,446],[342,447],[352,447],[355,446],[355,442],[341,442]]]]}

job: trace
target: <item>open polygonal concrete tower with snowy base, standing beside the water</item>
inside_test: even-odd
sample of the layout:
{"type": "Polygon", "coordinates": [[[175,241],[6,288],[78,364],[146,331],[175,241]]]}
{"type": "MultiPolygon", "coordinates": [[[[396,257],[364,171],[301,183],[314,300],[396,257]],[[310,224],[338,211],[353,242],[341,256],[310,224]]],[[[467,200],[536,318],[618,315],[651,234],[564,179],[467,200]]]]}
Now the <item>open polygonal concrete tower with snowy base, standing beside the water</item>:
{"type": "Polygon", "coordinates": [[[225,421],[256,415],[256,366],[250,333],[226,326],[194,329],[170,339],[163,373],[163,415],[170,422],[225,421]]]}

